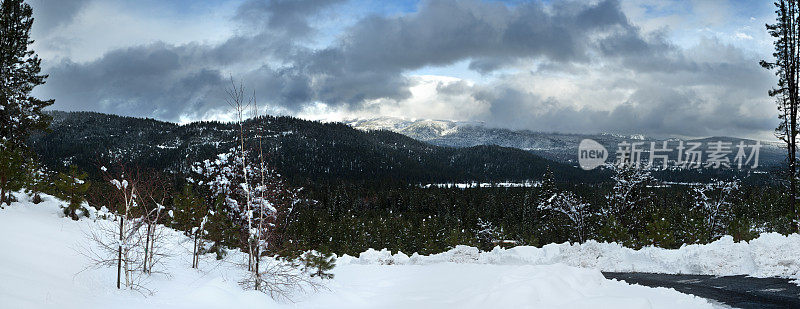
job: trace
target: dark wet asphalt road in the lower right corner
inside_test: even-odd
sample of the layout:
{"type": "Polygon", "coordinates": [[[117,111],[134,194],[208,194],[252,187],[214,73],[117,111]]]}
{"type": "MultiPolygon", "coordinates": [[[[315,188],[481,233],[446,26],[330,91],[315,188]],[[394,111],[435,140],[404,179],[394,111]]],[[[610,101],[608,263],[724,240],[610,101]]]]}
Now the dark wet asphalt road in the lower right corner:
{"type": "Polygon", "coordinates": [[[800,308],[800,286],[782,278],[604,272],[609,279],[673,288],[734,308],[800,308]]]}

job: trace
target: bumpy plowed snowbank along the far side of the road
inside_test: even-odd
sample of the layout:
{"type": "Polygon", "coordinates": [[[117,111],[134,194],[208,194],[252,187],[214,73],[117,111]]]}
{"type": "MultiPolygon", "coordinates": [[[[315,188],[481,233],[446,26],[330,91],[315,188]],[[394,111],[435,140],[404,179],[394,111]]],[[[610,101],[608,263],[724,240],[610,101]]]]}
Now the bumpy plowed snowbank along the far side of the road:
{"type": "Polygon", "coordinates": [[[340,263],[410,264],[476,263],[495,265],[550,265],[593,268],[616,272],[668,274],[750,275],[754,277],[800,278],[800,235],[764,233],[750,242],[734,242],[730,236],[706,245],[685,245],[669,250],[645,247],[634,250],[616,243],[588,241],[583,244],[549,244],[542,248],[519,246],[478,252],[477,248],[456,248],[430,256],[402,252],[392,255],[384,249],[367,250],[358,258],[344,256],[340,263]]]}

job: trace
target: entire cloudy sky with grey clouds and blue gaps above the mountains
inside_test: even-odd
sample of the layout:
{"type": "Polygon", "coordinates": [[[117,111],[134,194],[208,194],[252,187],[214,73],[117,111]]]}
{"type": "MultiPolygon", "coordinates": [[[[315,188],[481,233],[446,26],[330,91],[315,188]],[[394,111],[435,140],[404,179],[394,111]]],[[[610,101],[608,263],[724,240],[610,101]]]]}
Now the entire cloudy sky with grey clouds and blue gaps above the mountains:
{"type": "Polygon", "coordinates": [[[771,1],[29,0],[53,109],[770,138],[771,1]]]}

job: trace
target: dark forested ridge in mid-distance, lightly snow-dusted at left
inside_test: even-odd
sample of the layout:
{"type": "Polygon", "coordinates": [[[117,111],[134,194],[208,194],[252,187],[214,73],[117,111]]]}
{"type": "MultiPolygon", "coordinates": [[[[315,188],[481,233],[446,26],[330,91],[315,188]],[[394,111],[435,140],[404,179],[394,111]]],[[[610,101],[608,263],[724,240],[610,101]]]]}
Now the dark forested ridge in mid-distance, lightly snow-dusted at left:
{"type": "MultiPolygon", "coordinates": [[[[49,132],[30,145],[53,169],[69,164],[96,171],[98,164],[125,162],[186,173],[192,162],[235,146],[235,124],[178,125],[153,119],[93,112],[51,112],[49,132]]],[[[547,168],[563,180],[599,179],[567,164],[500,146],[453,148],[389,131],[364,132],[342,123],[265,116],[245,123],[261,134],[270,163],[297,182],[395,181],[405,183],[501,182],[539,179],[547,168]]]]}

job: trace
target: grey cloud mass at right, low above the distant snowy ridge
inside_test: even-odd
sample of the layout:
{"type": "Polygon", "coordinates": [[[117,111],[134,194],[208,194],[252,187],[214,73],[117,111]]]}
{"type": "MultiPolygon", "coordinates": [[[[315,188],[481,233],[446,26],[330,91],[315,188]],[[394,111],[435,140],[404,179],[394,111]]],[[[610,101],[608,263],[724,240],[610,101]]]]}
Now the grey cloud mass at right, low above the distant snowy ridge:
{"type": "MultiPolygon", "coordinates": [[[[606,80],[596,81],[595,86],[630,89],[633,93],[607,111],[592,108],[593,102],[581,102],[589,103],[583,108],[564,106],[553,98],[510,86],[511,80],[474,87],[473,96],[490,106],[489,112],[476,120],[543,131],[687,136],[747,135],[774,127],[772,115],[748,112],[764,102],[773,81],[771,73],[741,51],[716,40],[703,40],[698,49],[707,56],[691,55],[692,51],[677,58],[652,54],[651,61],[674,66],[657,71],[652,70],[653,65],[632,65],[629,58],[621,59],[607,70],[606,80]],[[710,57],[716,59],[706,59],[710,57]],[[637,78],[625,78],[627,72],[634,72],[637,78]]],[[[590,82],[586,84],[586,92],[597,91],[590,82]]]]}

